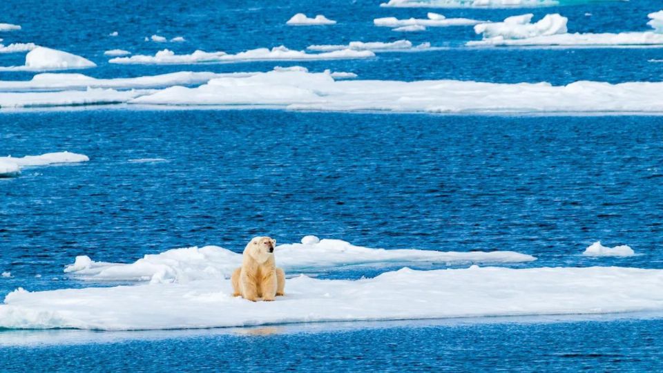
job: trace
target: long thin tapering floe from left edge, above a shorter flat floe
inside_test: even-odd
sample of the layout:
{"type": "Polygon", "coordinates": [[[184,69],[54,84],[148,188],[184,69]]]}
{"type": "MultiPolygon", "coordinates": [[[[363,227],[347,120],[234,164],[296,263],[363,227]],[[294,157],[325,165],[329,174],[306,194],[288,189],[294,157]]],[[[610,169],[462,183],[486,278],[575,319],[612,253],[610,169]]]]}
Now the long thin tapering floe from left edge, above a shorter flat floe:
{"type": "MultiPolygon", "coordinates": [[[[32,77],[31,80],[0,81],[2,91],[30,91],[30,90],[86,90],[87,88],[163,88],[173,85],[192,85],[209,82],[218,77],[247,77],[256,73],[207,73],[180,71],[162,75],[97,79],[83,74],[71,73],[42,73],[32,77]]],[[[0,93],[1,95],[1,93],[0,93]]]]}

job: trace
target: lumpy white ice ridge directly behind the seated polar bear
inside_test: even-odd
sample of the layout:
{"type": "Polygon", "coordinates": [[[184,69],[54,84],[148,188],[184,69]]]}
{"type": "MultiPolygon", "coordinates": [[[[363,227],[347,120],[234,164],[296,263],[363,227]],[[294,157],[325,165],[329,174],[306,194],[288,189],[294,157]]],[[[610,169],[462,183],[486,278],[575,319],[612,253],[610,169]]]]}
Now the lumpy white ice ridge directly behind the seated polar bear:
{"type": "MultiPolygon", "coordinates": [[[[279,245],[276,260],[291,274],[334,269],[334,267],[403,265],[458,265],[466,263],[514,263],[536,260],[514,251],[432,251],[415,249],[369,249],[342,240],[319,240],[306,236],[301,244],[279,245]]],[[[217,246],[171,249],[146,255],[130,264],[95,262],[77,256],[66,273],[87,280],[149,281],[186,283],[210,278],[229,278],[240,266],[242,254],[217,246]]]]}

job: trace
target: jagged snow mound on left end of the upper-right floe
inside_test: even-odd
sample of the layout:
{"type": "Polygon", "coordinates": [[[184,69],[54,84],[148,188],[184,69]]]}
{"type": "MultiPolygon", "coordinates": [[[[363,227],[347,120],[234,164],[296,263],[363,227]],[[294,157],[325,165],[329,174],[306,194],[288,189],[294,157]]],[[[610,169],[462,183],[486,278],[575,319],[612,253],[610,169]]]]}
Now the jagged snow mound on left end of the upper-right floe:
{"type": "Polygon", "coordinates": [[[546,15],[536,23],[532,23],[534,15],[519,15],[508,17],[503,22],[480,23],[474,26],[477,34],[482,34],[483,39],[526,39],[543,35],[565,34],[568,18],[561,15],[546,15]]]}

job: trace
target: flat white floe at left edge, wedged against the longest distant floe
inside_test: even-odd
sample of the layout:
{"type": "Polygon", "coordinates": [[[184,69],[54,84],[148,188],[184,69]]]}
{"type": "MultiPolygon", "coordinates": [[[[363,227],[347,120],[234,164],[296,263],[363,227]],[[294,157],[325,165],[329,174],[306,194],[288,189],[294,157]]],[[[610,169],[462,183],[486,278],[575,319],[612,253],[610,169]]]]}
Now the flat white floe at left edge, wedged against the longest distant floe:
{"type": "Polygon", "coordinates": [[[0,92],[0,108],[39,108],[53,106],[81,106],[120,104],[150,92],[144,90],[61,90],[57,92],[0,92]]]}

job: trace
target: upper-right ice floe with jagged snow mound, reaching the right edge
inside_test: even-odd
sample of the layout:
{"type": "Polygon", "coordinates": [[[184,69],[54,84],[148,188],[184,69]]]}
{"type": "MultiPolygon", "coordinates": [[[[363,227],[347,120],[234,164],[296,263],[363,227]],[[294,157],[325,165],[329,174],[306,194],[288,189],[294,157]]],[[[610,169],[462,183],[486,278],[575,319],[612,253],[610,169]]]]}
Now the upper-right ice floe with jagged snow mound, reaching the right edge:
{"type": "Polygon", "coordinates": [[[619,33],[568,33],[568,19],[561,15],[546,15],[531,23],[532,15],[508,17],[503,22],[480,23],[474,31],[481,41],[469,41],[467,46],[564,46],[564,47],[626,47],[663,46],[663,11],[648,15],[647,24],[654,31],[619,33]]]}

